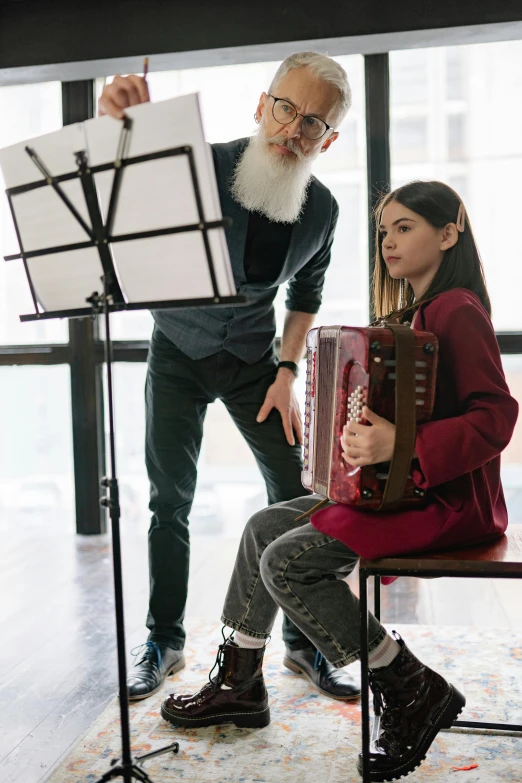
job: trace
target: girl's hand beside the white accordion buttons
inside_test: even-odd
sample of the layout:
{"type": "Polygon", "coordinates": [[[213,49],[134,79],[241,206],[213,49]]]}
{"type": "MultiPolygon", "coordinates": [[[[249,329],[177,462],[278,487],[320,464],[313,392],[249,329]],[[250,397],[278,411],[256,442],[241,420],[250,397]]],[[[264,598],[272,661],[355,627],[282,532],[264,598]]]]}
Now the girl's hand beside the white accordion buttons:
{"type": "Polygon", "coordinates": [[[372,426],[355,421],[345,425],[341,436],[342,458],[357,468],[389,462],[395,448],[395,424],[377,416],[366,405],[362,414],[372,426]]]}

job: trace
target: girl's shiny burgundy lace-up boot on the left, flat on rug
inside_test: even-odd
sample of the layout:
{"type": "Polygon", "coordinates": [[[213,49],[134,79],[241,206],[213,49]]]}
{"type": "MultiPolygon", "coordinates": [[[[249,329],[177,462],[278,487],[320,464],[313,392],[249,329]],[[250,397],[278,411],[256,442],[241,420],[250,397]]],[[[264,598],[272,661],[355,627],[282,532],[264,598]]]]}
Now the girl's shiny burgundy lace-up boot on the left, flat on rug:
{"type": "MultiPolygon", "coordinates": [[[[264,647],[249,650],[227,639],[219,646],[218,672],[192,696],[173,693],[161,705],[161,715],[174,726],[214,726],[234,723],[262,728],[270,723],[268,693],[263,679],[264,647]]],[[[214,666],[215,668],[215,666],[214,666]]]]}

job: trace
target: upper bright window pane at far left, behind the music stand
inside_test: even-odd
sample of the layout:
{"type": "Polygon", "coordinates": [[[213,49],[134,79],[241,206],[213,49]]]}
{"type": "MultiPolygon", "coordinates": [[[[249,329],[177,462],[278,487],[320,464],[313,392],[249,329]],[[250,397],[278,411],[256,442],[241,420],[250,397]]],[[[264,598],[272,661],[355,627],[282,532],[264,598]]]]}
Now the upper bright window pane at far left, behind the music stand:
{"type": "MultiPolygon", "coordinates": [[[[0,117],[9,119],[0,123],[0,147],[57,130],[62,125],[60,83],[1,87],[0,117]]],[[[34,306],[22,263],[3,260],[20,250],[4,188],[0,175],[0,344],[66,342],[66,321],[20,323],[19,315],[34,312],[34,306]]]]}

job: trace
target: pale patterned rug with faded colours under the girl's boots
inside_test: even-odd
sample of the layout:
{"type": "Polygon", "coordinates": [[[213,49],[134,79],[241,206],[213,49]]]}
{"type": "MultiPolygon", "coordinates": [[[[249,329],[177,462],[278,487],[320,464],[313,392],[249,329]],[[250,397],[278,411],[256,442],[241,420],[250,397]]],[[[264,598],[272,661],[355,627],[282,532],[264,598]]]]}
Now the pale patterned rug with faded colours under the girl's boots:
{"type": "MultiPolygon", "coordinates": [[[[177,756],[160,756],[144,769],[154,783],[359,783],[358,703],[317,693],[307,680],[282,666],[275,638],[265,657],[271,724],[264,729],[232,725],[176,729],[159,709],[176,690],[193,693],[206,681],[221,638],[218,626],[189,624],[187,668],[167,680],[163,693],[131,706],[136,755],[179,741],[177,756]],[[191,627],[192,626],[192,627],[191,627]]],[[[462,717],[522,723],[522,634],[501,629],[397,626],[419,658],[453,682],[467,697],[462,717]]],[[[279,635],[279,634],[278,634],[279,635]]],[[[357,674],[358,664],[354,664],[357,674]]],[[[115,700],[47,783],[93,783],[120,753],[115,700]]],[[[520,783],[522,735],[495,736],[454,730],[439,734],[408,783],[520,783]],[[454,771],[452,767],[478,766],[454,771]]]]}

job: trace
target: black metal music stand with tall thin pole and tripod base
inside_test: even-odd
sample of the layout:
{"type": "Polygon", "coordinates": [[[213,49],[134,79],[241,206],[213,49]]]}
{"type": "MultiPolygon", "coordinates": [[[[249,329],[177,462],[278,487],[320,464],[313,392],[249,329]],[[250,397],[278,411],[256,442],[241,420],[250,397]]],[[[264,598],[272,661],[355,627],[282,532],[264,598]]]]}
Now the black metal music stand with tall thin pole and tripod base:
{"type": "MultiPolygon", "coordinates": [[[[165,102],[166,103],[166,102],[165,102]]],[[[119,488],[116,474],[116,453],[115,453],[115,426],[114,426],[114,398],[113,398],[113,379],[112,379],[112,343],[110,334],[110,314],[125,310],[140,309],[170,309],[175,307],[200,307],[200,306],[223,306],[240,305],[246,302],[245,297],[237,295],[223,295],[220,291],[216,269],[214,264],[214,255],[211,247],[210,232],[229,226],[231,221],[228,218],[219,220],[205,220],[203,200],[201,196],[200,182],[194,157],[194,150],[191,145],[181,145],[162,149],[145,155],[136,155],[127,157],[129,149],[130,136],[132,133],[133,120],[127,117],[122,122],[121,133],[118,143],[118,149],[115,159],[110,163],[100,165],[89,164],[87,149],[80,149],[75,152],[76,168],[65,173],[53,176],[49,170],[46,161],[29,145],[25,146],[25,153],[39,170],[43,178],[25,182],[22,185],[8,187],[6,194],[13,217],[15,231],[20,246],[20,253],[5,256],[5,261],[22,260],[27,276],[35,312],[20,316],[21,321],[40,321],[51,318],[78,318],[85,316],[97,316],[103,313],[105,321],[105,361],[107,364],[107,398],[109,407],[109,451],[110,451],[110,475],[104,477],[101,485],[107,490],[100,499],[102,506],[109,510],[112,532],[112,554],[114,570],[114,597],[116,614],[116,640],[118,654],[118,682],[120,697],[120,717],[121,717],[121,738],[122,738],[122,757],[121,760],[114,759],[110,769],[104,773],[98,783],[105,783],[116,777],[123,777],[125,783],[131,783],[133,779],[152,783],[147,773],[141,768],[141,764],[155,756],[172,751],[177,753],[179,744],[174,742],[167,747],[151,751],[142,756],[132,758],[130,748],[130,725],[129,725],[129,699],[127,692],[127,667],[125,660],[125,629],[124,629],[124,609],[123,609],[123,579],[121,565],[121,538],[120,538],[120,504],[119,488]],[[124,235],[113,234],[113,226],[116,219],[119,195],[121,192],[122,177],[125,170],[137,164],[144,164],[150,161],[157,161],[164,158],[175,156],[185,156],[190,168],[190,178],[192,182],[193,196],[197,207],[197,222],[185,225],[156,228],[147,231],[136,231],[124,235]],[[106,218],[104,219],[101,208],[101,199],[96,186],[96,175],[100,173],[113,172],[112,187],[110,189],[110,198],[106,218]],[[88,221],[85,219],[85,211],[78,203],[73,203],[70,193],[64,187],[64,183],[71,183],[74,180],[81,182],[81,188],[85,199],[85,208],[88,215],[88,221]],[[83,242],[70,242],[55,246],[40,247],[37,250],[24,251],[23,227],[21,226],[20,215],[18,214],[16,196],[37,191],[40,188],[47,188],[59,197],[65,205],[68,213],[73,216],[88,239],[83,242]],[[83,214],[82,214],[83,213],[83,214]],[[144,239],[151,239],[170,234],[179,234],[183,232],[198,232],[203,240],[204,253],[208,266],[208,273],[212,286],[211,296],[202,296],[200,298],[183,298],[169,301],[146,301],[129,302],[126,301],[122,286],[118,279],[117,270],[113,258],[113,245],[118,242],[133,242],[144,239]],[[39,303],[37,286],[34,285],[30,273],[28,261],[33,258],[42,258],[51,256],[56,260],[61,256],[65,260],[67,254],[75,251],[96,249],[100,262],[102,274],[101,290],[85,291],[85,302],[89,307],[74,307],[71,309],[42,311],[39,303]]],[[[67,126],[72,128],[72,126],[67,126]]],[[[5,159],[4,159],[5,164],[5,159]]],[[[27,214],[22,215],[22,223],[27,221],[27,214]]],[[[72,257],[72,256],[71,256],[72,257]]],[[[91,276],[92,277],[92,276],[91,276]]]]}

